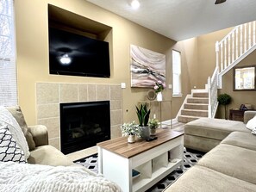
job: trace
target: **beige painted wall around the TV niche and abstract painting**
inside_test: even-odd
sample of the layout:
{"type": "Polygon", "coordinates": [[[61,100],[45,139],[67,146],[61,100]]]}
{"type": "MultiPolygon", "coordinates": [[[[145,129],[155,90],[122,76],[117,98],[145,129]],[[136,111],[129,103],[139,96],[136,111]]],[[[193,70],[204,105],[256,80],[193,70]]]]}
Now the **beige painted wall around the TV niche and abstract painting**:
{"type": "MultiPolygon", "coordinates": [[[[191,39],[176,44],[175,41],[156,34],[122,17],[112,14],[84,0],[16,0],[16,40],[17,40],[17,77],[19,105],[28,125],[36,123],[35,84],[42,83],[83,83],[83,84],[121,84],[123,121],[137,120],[135,105],[145,100],[147,90],[130,88],[129,46],[134,44],[166,55],[166,84],[172,84],[172,48],[182,53],[183,93],[190,92],[190,86],[197,84],[192,76],[197,73],[193,67],[197,61],[197,40],[191,39]],[[111,77],[72,77],[49,75],[47,3],[69,10],[91,20],[101,22],[112,28],[111,77]],[[176,44],[176,45],[175,45],[176,44]],[[189,46],[185,46],[188,44],[189,46]],[[194,51],[193,51],[194,50],[194,51]],[[195,59],[196,58],[196,59],[195,59]]],[[[111,38],[110,38],[111,39],[111,38]]],[[[204,80],[206,81],[206,80],[204,80]]],[[[199,81],[200,82],[200,81],[199,81]]],[[[172,90],[164,91],[165,100],[172,99],[172,90]]],[[[172,102],[173,117],[184,100],[175,98],[172,102]]],[[[170,109],[166,109],[170,113],[170,109]]]]}

